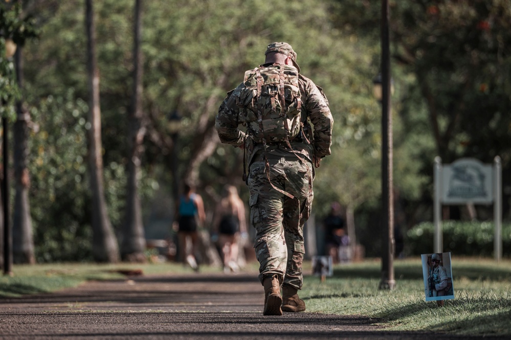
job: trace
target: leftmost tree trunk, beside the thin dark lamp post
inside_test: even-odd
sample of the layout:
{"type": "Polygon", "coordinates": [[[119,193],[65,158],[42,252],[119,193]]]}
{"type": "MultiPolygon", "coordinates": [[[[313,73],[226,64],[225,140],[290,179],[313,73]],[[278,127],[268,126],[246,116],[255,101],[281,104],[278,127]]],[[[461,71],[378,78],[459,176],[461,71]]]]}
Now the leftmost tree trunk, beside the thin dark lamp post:
{"type": "MultiPolygon", "coordinates": [[[[18,87],[23,88],[23,62],[21,47],[15,57],[16,79],[18,87]]],[[[12,252],[14,263],[35,263],[34,238],[32,236],[32,219],[28,189],[30,186],[28,158],[28,123],[30,114],[23,109],[21,101],[16,103],[17,119],[14,123],[14,182],[16,194],[14,198],[14,216],[12,226],[12,252]]]]}

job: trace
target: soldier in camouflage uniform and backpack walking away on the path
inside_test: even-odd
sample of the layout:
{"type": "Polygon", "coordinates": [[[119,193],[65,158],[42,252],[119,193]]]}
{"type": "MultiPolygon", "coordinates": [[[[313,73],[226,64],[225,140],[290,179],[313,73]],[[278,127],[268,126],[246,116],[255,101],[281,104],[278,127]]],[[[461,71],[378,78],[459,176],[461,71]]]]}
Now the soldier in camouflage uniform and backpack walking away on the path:
{"type": "Polygon", "coordinates": [[[282,315],[305,310],[298,297],[303,225],[313,201],[313,165],[319,167],[321,158],[330,154],[334,120],[322,89],[299,74],[290,44],[271,43],[265,56],[264,64],[247,71],[243,83],[228,93],[215,127],[221,142],[244,149],[263,314],[282,315]],[[280,118],[272,112],[280,112],[280,118]]]}

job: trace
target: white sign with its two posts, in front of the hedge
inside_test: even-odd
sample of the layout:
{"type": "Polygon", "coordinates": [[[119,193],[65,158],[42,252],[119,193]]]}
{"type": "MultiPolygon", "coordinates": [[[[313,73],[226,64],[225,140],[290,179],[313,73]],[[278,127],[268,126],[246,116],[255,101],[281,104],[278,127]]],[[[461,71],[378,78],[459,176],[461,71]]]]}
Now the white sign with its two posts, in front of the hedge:
{"type": "Polygon", "coordinates": [[[452,164],[441,164],[441,158],[435,157],[434,166],[434,252],[443,251],[440,220],[441,204],[459,205],[494,203],[495,220],[495,259],[502,258],[502,170],[500,157],[495,157],[494,166],[483,164],[474,158],[461,158],[452,164]]]}

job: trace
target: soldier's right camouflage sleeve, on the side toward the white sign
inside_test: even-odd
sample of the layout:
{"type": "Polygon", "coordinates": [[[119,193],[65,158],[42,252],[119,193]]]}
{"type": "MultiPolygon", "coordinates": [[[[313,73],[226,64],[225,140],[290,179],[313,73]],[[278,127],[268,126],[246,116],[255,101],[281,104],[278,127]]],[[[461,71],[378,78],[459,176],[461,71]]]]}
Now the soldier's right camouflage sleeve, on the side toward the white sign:
{"type": "Polygon", "coordinates": [[[328,100],[323,91],[316,84],[300,75],[303,80],[304,99],[303,105],[307,111],[310,122],[314,125],[314,152],[315,156],[322,158],[331,153],[330,146],[332,144],[332,126],[334,118],[328,107],[328,100]]]}

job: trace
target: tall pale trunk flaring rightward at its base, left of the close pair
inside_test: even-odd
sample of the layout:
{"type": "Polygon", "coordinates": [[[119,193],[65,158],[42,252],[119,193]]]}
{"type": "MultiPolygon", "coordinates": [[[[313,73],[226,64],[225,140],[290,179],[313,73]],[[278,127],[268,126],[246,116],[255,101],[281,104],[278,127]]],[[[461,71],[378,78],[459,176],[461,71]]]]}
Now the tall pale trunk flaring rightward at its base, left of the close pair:
{"type": "Polygon", "coordinates": [[[87,31],[87,69],[90,92],[88,120],[88,163],[92,191],[92,229],[94,259],[98,262],[118,262],[119,248],[106,211],[101,155],[101,110],[99,107],[99,70],[96,62],[96,34],[92,0],[85,0],[87,31]]]}

